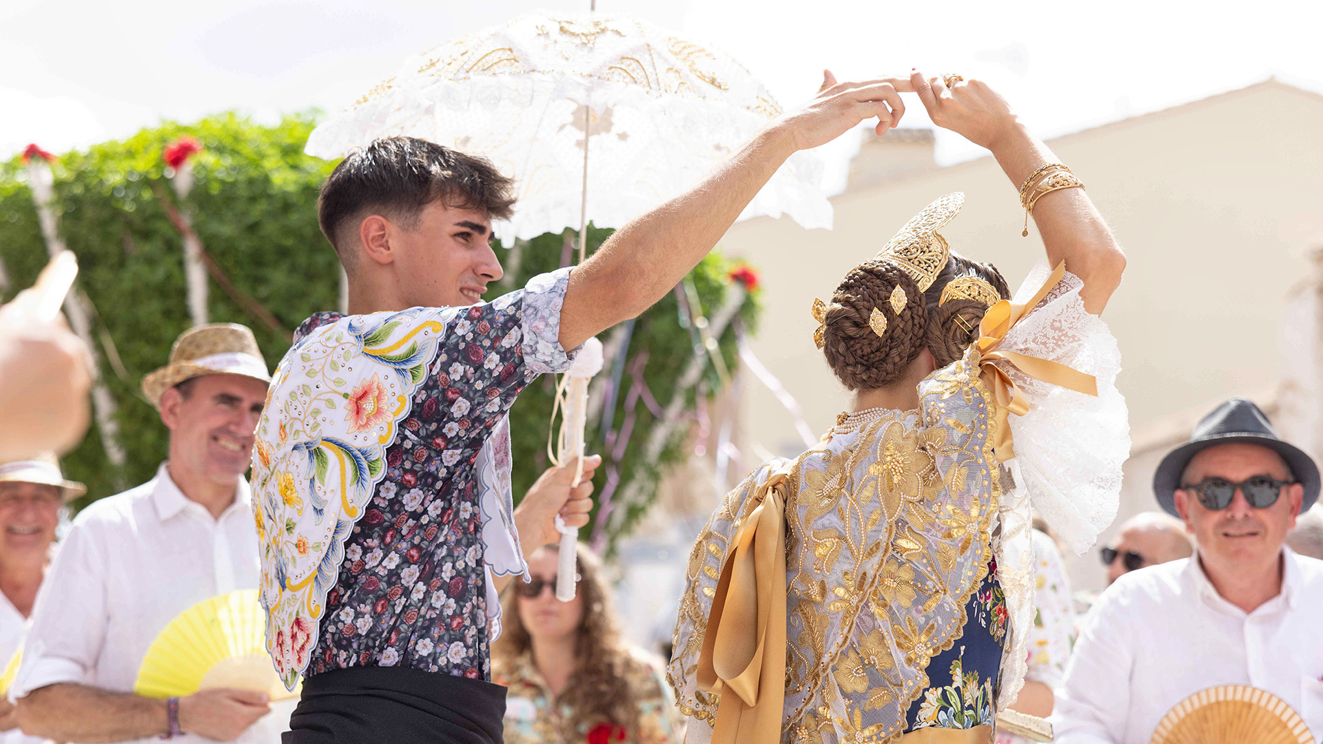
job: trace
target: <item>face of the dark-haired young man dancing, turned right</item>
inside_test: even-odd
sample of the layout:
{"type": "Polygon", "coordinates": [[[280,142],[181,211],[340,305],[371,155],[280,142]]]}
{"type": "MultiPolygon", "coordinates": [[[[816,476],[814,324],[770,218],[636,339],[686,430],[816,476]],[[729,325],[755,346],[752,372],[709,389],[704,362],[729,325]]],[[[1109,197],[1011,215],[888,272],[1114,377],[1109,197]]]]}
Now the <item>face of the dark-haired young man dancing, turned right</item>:
{"type": "Polygon", "coordinates": [[[503,275],[491,232],[486,212],[446,207],[443,199],[422,208],[417,228],[392,225],[401,299],[413,307],[482,302],[488,282],[503,275]]]}

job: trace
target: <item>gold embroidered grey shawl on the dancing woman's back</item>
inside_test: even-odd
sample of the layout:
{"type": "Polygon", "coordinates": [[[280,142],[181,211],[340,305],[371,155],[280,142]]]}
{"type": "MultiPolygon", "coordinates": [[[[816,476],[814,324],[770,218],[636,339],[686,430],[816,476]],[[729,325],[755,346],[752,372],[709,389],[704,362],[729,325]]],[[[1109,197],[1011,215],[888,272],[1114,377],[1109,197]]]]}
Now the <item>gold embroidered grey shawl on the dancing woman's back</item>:
{"type": "Polygon", "coordinates": [[[765,465],[726,495],[689,556],[667,669],[685,715],[716,719],[720,694],[697,683],[712,598],[746,502],[789,470],[782,741],[900,737],[991,557],[1002,483],[978,359],[923,380],[917,410],[765,465]]]}

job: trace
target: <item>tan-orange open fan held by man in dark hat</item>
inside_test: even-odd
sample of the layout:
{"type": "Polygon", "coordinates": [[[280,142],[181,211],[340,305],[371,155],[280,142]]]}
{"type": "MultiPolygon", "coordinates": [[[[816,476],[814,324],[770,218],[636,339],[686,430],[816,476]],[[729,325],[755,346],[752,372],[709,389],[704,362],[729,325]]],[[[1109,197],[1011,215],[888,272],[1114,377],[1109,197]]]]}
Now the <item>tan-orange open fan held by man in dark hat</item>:
{"type": "Polygon", "coordinates": [[[1151,744],[1314,744],[1299,714],[1257,687],[1222,684],[1176,703],[1151,744]]]}

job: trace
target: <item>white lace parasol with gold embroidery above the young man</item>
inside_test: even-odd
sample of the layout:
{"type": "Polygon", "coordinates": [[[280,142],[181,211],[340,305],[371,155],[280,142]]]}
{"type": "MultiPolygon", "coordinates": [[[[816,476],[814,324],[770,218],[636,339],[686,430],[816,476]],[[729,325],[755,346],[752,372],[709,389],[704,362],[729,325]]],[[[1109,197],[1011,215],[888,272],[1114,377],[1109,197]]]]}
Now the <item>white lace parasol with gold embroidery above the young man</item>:
{"type": "MultiPolygon", "coordinates": [[[[619,228],[693,187],[779,113],[720,52],[631,19],[533,15],[406,61],[314,130],[307,152],[339,158],[410,135],[488,158],[517,184],[515,217],[495,225],[509,245],[585,214],[619,228]]],[[[799,152],[741,218],[831,228],[820,181],[818,158],[799,152]]]]}

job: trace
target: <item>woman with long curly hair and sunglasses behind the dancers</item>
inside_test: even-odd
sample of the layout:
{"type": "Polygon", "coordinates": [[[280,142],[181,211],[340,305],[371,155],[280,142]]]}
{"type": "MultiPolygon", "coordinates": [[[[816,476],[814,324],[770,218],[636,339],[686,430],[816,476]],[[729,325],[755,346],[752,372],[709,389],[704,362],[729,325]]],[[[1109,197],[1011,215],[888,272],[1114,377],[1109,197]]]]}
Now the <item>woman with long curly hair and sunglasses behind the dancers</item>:
{"type": "Polygon", "coordinates": [[[505,696],[507,744],[673,744],[683,723],[662,662],[620,638],[602,561],[576,549],[574,598],[556,598],[550,544],[528,559],[532,581],[501,596],[504,633],[492,645],[492,679],[505,696]]]}

